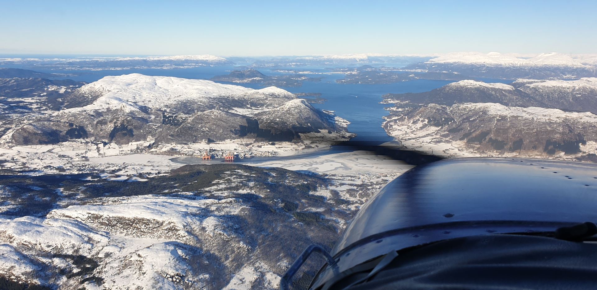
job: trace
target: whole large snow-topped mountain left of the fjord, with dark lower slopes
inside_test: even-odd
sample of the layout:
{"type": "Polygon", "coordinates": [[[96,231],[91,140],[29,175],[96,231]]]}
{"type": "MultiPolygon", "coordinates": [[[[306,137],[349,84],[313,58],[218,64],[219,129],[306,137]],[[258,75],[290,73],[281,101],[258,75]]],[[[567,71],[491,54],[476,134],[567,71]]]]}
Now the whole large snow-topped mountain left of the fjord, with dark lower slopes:
{"type": "Polygon", "coordinates": [[[64,97],[64,107],[5,122],[2,138],[16,144],[53,144],[74,138],[118,144],[144,140],[201,143],[240,137],[291,141],[300,138],[300,132],[345,129],[330,113],[279,88],[254,90],[140,74],[106,76],[84,85],[64,97]],[[274,121],[269,119],[272,114],[278,116],[274,121]],[[266,124],[265,128],[260,124],[266,124]]]}

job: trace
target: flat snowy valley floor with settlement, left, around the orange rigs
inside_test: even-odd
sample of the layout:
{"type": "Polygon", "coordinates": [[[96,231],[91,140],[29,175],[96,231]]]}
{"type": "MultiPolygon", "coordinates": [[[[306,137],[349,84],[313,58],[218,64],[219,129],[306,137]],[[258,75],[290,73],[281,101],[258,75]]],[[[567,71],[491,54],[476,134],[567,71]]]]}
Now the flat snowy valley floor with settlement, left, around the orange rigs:
{"type": "Polygon", "coordinates": [[[176,162],[176,158],[200,160],[201,156],[209,154],[213,159],[200,163],[218,163],[228,153],[242,160],[253,156],[293,156],[329,146],[325,142],[266,143],[239,139],[210,144],[165,143],[148,149],[151,143],[149,140],[118,145],[75,140],[54,145],[4,147],[0,148],[0,168],[30,171],[31,174],[109,173],[118,175],[111,178],[127,180],[131,175],[152,177],[183,166],[176,162]],[[305,149],[306,146],[309,149],[305,149]]]}

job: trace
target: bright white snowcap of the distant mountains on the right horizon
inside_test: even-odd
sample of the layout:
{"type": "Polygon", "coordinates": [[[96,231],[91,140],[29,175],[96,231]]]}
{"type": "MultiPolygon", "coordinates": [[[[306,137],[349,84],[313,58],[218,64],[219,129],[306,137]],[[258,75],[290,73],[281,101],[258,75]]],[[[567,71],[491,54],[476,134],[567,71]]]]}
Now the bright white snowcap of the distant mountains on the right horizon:
{"type": "Polygon", "coordinates": [[[521,58],[512,54],[500,54],[496,52],[462,52],[448,53],[432,58],[427,63],[461,63],[461,64],[488,64],[501,66],[568,66],[582,67],[580,61],[561,53],[542,53],[531,58],[521,58]]]}

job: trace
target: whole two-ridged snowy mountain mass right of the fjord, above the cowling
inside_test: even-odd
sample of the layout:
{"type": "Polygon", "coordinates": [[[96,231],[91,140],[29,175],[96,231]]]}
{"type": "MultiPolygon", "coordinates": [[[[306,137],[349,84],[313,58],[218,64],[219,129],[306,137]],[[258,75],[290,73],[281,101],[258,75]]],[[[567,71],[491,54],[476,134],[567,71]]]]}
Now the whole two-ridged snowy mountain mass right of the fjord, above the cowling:
{"type": "Polygon", "coordinates": [[[596,153],[597,78],[467,80],[385,97],[396,106],[388,108],[383,127],[409,147],[460,156],[583,159],[596,153]]]}

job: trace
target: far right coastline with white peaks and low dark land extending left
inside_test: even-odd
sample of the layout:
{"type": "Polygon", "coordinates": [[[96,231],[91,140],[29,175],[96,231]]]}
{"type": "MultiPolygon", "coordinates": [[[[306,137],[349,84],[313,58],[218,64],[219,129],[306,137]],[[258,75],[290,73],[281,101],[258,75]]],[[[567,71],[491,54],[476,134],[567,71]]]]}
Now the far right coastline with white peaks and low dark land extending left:
{"type": "MultiPolygon", "coordinates": [[[[451,53],[405,67],[370,65],[340,69],[338,84],[393,84],[413,79],[461,81],[473,79],[576,79],[597,76],[596,57],[573,58],[547,53],[530,58],[500,53],[451,53]]],[[[356,62],[356,61],[355,61],[356,62]]]]}

